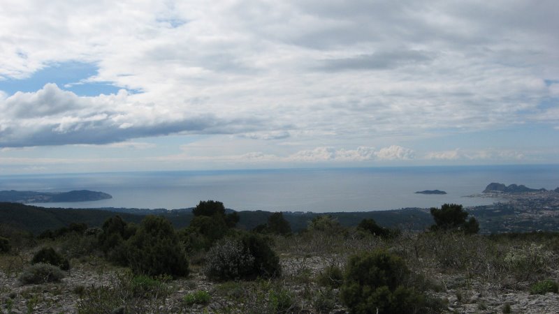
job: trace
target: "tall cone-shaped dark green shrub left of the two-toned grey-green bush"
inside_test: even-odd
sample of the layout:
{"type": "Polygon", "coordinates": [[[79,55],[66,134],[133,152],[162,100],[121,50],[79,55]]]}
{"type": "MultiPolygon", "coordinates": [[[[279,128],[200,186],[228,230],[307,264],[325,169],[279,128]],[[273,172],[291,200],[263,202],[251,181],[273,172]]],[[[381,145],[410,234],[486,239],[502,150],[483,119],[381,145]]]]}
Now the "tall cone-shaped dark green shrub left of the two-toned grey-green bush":
{"type": "Polygon", "coordinates": [[[129,266],[135,274],[187,276],[189,263],[169,220],[146,216],[127,243],[129,266]]]}

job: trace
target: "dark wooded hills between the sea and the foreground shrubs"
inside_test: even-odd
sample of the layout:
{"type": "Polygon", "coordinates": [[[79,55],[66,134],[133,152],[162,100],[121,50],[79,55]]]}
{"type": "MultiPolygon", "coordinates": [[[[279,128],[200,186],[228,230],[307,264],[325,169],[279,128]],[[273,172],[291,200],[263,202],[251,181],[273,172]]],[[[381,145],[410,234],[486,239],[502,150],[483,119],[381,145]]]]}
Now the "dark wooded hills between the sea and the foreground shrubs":
{"type": "MultiPolygon", "coordinates": [[[[233,212],[225,209],[226,212],[233,212]]],[[[60,209],[29,206],[19,203],[0,202],[0,223],[40,234],[45,230],[55,230],[70,223],[85,223],[90,227],[101,227],[103,222],[115,212],[124,220],[140,223],[149,214],[164,216],[177,229],[188,227],[194,215],[191,209],[154,211],[135,209],[60,209]],[[114,211],[112,211],[114,210],[114,211]]],[[[237,211],[237,227],[252,230],[263,225],[274,213],[270,211],[237,211]]],[[[312,212],[284,212],[285,220],[291,225],[293,232],[305,230],[308,223],[324,214],[312,212]]],[[[344,227],[355,227],[363,219],[375,219],[387,227],[398,227],[406,230],[421,231],[433,224],[433,218],[421,209],[400,209],[391,211],[337,212],[328,213],[344,227]]]]}

